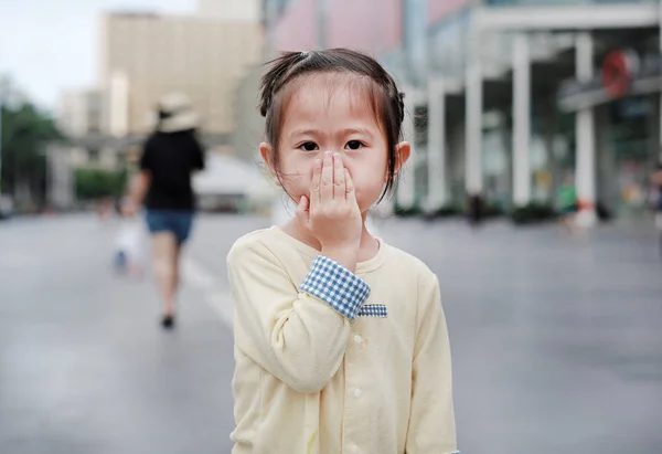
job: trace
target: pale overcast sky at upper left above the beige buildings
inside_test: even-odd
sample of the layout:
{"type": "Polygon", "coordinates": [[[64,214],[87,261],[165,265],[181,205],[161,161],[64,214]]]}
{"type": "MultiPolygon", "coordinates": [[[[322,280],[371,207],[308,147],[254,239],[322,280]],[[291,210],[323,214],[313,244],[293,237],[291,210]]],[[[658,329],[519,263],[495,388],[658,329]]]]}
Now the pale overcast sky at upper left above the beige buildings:
{"type": "Polygon", "coordinates": [[[63,89],[93,86],[103,11],[194,11],[196,0],[0,0],[0,74],[44,108],[63,89]]]}

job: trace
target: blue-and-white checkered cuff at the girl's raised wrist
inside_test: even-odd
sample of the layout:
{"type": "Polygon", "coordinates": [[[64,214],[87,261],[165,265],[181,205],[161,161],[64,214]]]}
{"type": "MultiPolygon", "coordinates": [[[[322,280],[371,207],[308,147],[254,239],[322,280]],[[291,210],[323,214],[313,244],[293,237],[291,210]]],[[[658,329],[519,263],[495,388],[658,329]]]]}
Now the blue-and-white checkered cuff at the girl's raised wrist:
{"type": "Polygon", "coordinates": [[[299,291],[323,300],[354,321],[370,296],[370,285],[338,262],[318,255],[299,291]]]}

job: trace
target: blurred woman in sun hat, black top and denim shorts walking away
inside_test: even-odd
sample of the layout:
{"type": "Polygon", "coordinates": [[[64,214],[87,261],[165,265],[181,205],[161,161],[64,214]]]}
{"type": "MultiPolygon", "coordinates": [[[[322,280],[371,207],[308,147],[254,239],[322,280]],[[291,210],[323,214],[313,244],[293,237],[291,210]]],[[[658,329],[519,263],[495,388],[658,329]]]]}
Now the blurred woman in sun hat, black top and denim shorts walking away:
{"type": "Polygon", "coordinates": [[[196,208],[192,172],[204,168],[196,128],[197,115],[185,95],[175,93],[161,99],[157,128],[145,142],[140,171],[132,179],[125,208],[135,214],[145,203],[164,328],[174,325],[181,252],[196,208]]]}

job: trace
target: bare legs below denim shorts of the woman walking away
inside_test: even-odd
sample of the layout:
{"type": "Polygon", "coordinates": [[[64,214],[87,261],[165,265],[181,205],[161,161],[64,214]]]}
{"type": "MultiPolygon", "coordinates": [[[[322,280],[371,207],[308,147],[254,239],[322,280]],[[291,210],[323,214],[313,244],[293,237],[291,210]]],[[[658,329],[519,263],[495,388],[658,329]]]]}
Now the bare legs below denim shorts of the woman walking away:
{"type": "Polygon", "coordinates": [[[152,235],[154,274],[157,286],[163,300],[163,315],[174,314],[174,299],[179,281],[179,246],[172,233],[159,232],[152,235]]]}

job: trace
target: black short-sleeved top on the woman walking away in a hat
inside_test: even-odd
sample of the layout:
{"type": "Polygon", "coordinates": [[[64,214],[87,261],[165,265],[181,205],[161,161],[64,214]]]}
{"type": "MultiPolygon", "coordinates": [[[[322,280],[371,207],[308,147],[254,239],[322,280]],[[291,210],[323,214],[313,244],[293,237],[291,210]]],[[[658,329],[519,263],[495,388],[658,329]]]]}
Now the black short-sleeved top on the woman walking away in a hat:
{"type": "Polygon", "coordinates": [[[204,151],[194,131],[152,134],[145,144],[140,169],[151,175],[145,200],[148,210],[195,209],[191,173],[204,169],[204,151]]]}

